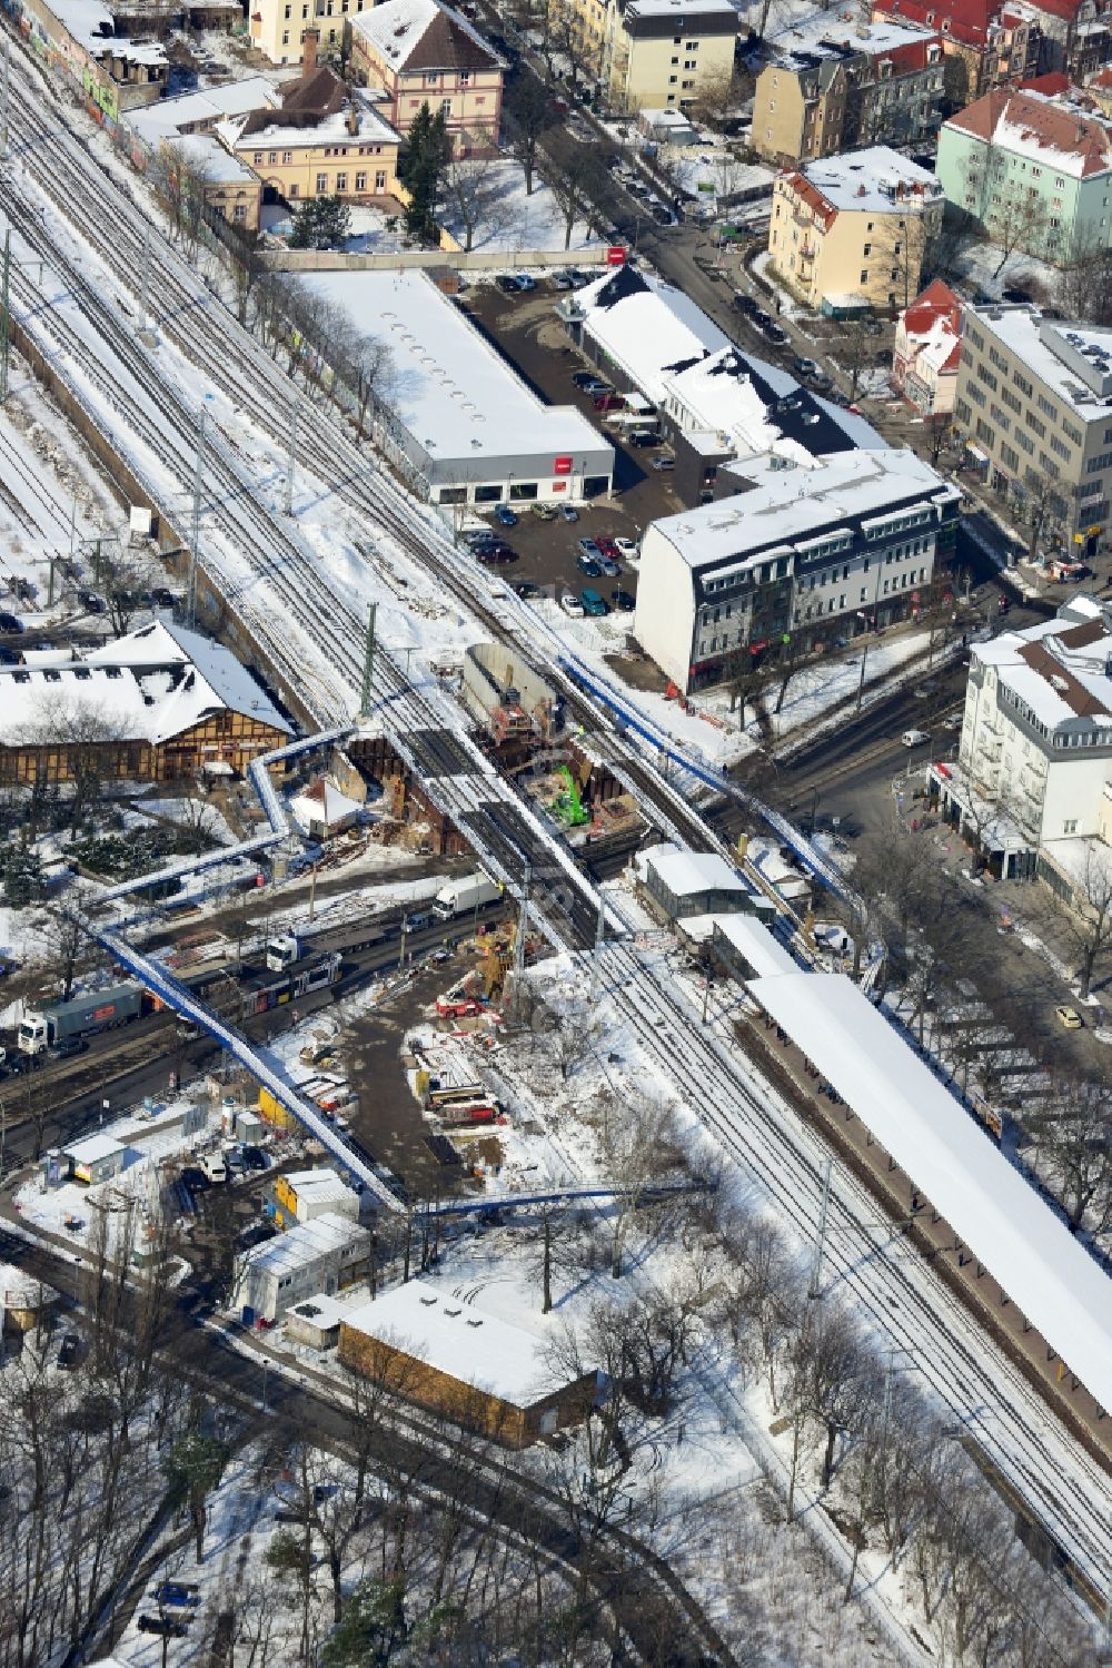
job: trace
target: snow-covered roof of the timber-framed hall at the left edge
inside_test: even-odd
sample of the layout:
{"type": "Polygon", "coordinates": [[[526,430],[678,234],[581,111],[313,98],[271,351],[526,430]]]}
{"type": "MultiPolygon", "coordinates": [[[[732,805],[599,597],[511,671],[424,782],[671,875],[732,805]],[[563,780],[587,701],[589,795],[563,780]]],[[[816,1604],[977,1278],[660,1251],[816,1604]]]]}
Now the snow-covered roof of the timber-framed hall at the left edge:
{"type": "Polygon", "coordinates": [[[270,697],[210,637],[160,619],[53,667],[0,667],[0,744],[33,742],[52,711],[93,711],[120,739],[163,742],[222,709],[290,734],[270,697]]]}

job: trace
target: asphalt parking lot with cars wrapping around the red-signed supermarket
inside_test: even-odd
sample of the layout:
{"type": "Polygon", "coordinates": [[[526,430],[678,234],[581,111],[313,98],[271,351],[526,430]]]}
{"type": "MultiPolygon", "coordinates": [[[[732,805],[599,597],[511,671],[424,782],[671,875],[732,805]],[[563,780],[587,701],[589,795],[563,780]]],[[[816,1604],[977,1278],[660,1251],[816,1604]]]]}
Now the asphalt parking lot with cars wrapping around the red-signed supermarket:
{"type": "Polygon", "coordinates": [[[577,505],[577,522],[540,520],[528,505],[515,507],[515,527],[498,527],[490,517],[492,530],[518,552],[515,562],[495,570],[510,584],[535,584],[553,589],[557,595],[565,590],[579,594],[587,585],[609,602],[615,587],[637,594],[637,570],[620,557],[622,572],[617,577],[580,572],[579,540],[620,537],[639,542],[649,522],[674,515],[684,505],[672,492],[667,475],[650,467],[655,452],[624,445],[604,425],[590,395],[572,382],[574,374],[585,369],[585,360],[567,342],[555,319],[560,294],[543,282],[527,295],[503,295],[495,285],[475,285],[465,297],[475,324],[543,400],[575,405],[600,434],[614,440],[614,495],[577,505]]]}

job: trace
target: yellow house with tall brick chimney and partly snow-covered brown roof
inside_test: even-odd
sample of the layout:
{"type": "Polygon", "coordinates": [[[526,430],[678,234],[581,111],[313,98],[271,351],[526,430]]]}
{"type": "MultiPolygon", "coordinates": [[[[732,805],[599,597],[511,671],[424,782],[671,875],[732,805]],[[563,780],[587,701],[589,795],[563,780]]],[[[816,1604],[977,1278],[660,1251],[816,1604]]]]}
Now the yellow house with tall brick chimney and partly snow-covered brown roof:
{"type": "Polygon", "coordinates": [[[305,70],[280,88],[282,107],[225,122],[220,137],[287,202],[397,197],[398,135],[373,98],[317,65],[315,33],[305,32],[305,70]]]}

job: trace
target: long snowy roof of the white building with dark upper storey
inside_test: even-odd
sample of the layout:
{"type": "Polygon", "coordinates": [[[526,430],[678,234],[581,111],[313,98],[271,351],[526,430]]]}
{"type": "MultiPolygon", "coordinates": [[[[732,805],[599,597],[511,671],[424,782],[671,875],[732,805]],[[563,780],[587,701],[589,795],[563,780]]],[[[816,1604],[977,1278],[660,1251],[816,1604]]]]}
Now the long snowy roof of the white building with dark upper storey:
{"type": "Polygon", "coordinates": [[[835,452],[814,469],[765,472],[752,492],[665,515],[654,530],[700,569],[729,557],[764,560],[774,549],[794,554],[792,540],[822,529],[955,495],[957,489],[910,450],[835,452]]]}

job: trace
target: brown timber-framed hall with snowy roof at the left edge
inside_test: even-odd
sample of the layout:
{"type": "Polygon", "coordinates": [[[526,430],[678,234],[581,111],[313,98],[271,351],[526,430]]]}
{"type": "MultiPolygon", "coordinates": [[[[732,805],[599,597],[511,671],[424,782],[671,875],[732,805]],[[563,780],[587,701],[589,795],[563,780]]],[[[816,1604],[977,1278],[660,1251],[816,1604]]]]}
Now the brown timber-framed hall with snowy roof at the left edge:
{"type": "Polygon", "coordinates": [[[0,782],[68,782],[100,754],[105,779],[242,772],[290,726],[235,656],[172,620],[52,666],[0,667],[0,782]]]}

